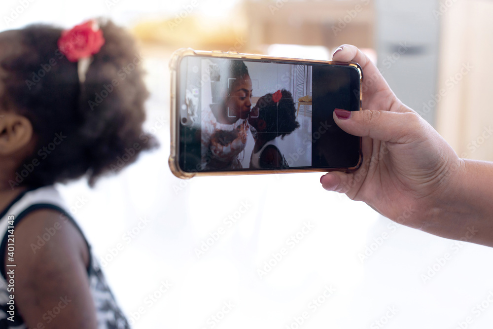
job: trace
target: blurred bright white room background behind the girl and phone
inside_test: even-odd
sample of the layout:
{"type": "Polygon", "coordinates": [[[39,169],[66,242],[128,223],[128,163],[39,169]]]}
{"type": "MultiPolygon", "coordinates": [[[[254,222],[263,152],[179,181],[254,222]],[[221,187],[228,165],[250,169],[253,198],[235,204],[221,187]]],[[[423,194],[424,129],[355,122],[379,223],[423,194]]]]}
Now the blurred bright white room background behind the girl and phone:
{"type": "MultiPolygon", "coordinates": [[[[145,130],[158,137],[161,148],[143,154],[118,177],[105,178],[94,189],[83,181],[59,186],[133,328],[491,328],[491,248],[393,223],[361,202],[323,190],[321,174],[182,181],[168,167],[168,61],[179,46],[200,46],[194,33],[203,31],[182,23],[173,33],[161,34],[159,26],[176,23],[176,15],[191,6],[184,18],[239,21],[238,29],[245,34],[236,35],[236,40],[241,36],[248,41],[240,50],[267,51],[271,43],[303,43],[323,46],[326,50],[317,51],[317,56],[324,56],[339,42],[332,27],[339,26],[339,18],[346,19],[343,30],[349,41],[343,42],[368,48],[397,96],[421,106],[447,82],[442,64],[450,63],[450,54],[443,47],[450,44],[450,35],[449,30],[439,32],[439,27],[446,28],[444,21],[456,26],[464,11],[474,12],[481,8],[478,5],[491,7],[491,1],[450,0],[444,1],[445,7],[435,1],[388,2],[2,0],[0,30],[35,22],[71,27],[89,17],[107,16],[141,39],[151,91],[145,130]],[[291,5],[301,5],[304,11],[284,21],[282,11],[294,10],[291,5]],[[332,18],[321,21],[320,10],[315,9],[320,6],[332,12],[332,18]],[[264,11],[252,14],[251,8],[264,11]],[[313,34],[302,37],[310,42],[290,42],[279,32],[284,30],[275,27],[281,21],[303,30],[302,16],[313,16],[313,24],[323,28],[317,34],[308,26],[306,31],[313,34]],[[259,30],[265,22],[252,23],[261,19],[270,28],[259,30]],[[372,38],[359,40],[360,29],[372,38]],[[273,42],[277,33],[279,42],[273,42]],[[152,39],[156,35],[164,36],[164,41],[152,39]],[[405,41],[413,45],[412,51],[401,55],[399,42],[405,41]],[[388,68],[390,62],[385,60],[396,52],[399,57],[388,68]],[[201,248],[205,251],[198,253],[201,248]]],[[[491,23],[485,18],[484,24],[491,23]]],[[[481,29],[480,23],[477,28],[481,29]]],[[[491,37],[491,29],[488,34],[491,37]]],[[[229,46],[218,42],[219,49],[234,47],[235,37],[231,39],[229,46]]],[[[215,46],[215,39],[211,40],[211,47],[215,46]]],[[[477,43],[473,46],[470,53],[482,51],[477,43]]],[[[293,51],[299,54],[298,49],[293,51]]],[[[482,76],[476,75],[475,81],[491,88],[491,80],[482,76]]],[[[469,90],[471,81],[466,84],[466,80],[443,102],[450,103],[459,90],[469,90]]],[[[487,100],[489,95],[480,96],[487,100]]],[[[466,110],[468,103],[459,105],[466,110]]],[[[435,108],[423,114],[436,124],[435,108]]],[[[491,112],[491,106],[480,110],[491,112]]],[[[455,122],[462,112],[454,113],[455,122]]],[[[482,120],[482,125],[491,122],[482,120]]],[[[446,121],[441,124],[447,126],[446,121]]],[[[481,133],[469,121],[459,128],[473,133],[466,134],[457,147],[466,147],[469,136],[481,133]]],[[[490,146],[491,141],[482,146],[485,158],[490,146]]],[[[482,154],[478,151],[471,157],[482,154]]]]}

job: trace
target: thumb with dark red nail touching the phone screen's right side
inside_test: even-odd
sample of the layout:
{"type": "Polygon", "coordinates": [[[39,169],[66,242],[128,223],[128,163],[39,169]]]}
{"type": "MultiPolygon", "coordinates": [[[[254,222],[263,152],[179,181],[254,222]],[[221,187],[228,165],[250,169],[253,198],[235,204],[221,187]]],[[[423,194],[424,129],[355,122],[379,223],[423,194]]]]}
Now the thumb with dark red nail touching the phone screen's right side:
{"type": "Polygon", "coordinates": [[[345,132],[379,141],[402,143],[420,131],[421,120],[414,112],[335,109],[334,120],[345,132]]]}

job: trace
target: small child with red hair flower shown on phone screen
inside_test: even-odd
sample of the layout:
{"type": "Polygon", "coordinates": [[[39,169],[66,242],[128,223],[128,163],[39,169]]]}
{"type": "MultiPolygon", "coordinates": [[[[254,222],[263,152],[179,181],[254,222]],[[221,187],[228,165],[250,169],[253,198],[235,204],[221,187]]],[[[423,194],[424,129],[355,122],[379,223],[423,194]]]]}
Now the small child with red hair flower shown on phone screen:
{"type": "Polygon", "coordinates": [[[291,93],[282,89],[260,97],[248,122],[255,140],[250,168],[288,168],[277,142],[300,126],[291,93]]]}

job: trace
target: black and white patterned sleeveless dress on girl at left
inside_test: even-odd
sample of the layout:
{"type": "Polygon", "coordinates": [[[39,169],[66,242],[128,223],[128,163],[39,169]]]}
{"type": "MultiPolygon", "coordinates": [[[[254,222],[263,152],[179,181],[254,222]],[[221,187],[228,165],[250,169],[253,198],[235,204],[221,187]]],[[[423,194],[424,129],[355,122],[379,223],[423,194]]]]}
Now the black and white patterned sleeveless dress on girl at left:
{"type": "MultiPolygon", "coordinates": [[[[80,228],[70,216],[70,213],[66,210],[64,202],[53,186],[46,186],[37,188],[35,190],[29,190],[20,194],[10,205],[8,205],[0,213],[0,329],[26,329],[24,320],[18,314],[17,306],[15,306],[14,316],[8,313],[10,304],[10,295],[15,292],[8,291],[8,282],[5,279],[5,253],[8,252],[7,241],[9,227],[12,224],[12,220],[9,220],[9,216],[13,216],[15,219],[15,226],[26,217],[29,213],[39,209],[51,209],[59,211],[62,216],[60,222],[70,220],[75,227],[80,231],[80,228]],[[13,321],[12,321],[13,320],[13,321]]],[[[10,217],[12,219],[12,217],[10,217]]],[[[12,232],[12,231],[11,231],[12,232]]],[[[80,231],[82,234],[82,231],[80,231]]],[[[82,234],[82,236],[84,236],[82,234]]],[[[85,238],[84,238],[85,239],[85,238]]],[[[87,241],[86,241],[87,243],[87,241]]],[[[106,284],[105,277],[101,271],[101,267],[98,261],[92,255],[89,244],[89,267],[87,269],[87,275],[89,278],[89,284],[91,293],[93,296],[94,304],[96,306],[98,328],[100,329],[129,329],[130,325],[127,319],[121,312],[120,308],[115,302],[115,298],[106,284]]],[[[8,265],[8,260],[7,260],[8,265]]],[[[10,267],[9,267],[10,268],[10,267]]],[[[15,287],[14,287],[15,288],[15,287]]],[[[43,323],[46,326],[46,323],[43,323]]]]}

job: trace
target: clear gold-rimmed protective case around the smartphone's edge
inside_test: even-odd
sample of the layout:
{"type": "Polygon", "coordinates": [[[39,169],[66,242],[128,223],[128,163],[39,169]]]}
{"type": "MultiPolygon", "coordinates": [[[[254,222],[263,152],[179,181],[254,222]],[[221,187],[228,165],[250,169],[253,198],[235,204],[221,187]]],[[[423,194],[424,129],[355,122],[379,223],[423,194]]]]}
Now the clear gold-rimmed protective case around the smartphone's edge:
{"type": "MultiPolygon", "coordinates": [[[[284,63],[292,64],[329,64],[329,65],[347,65],[355,67],[359,72],[359,105],[361,109],[362,104],[362,81],[363,81],[363,70],[358,63],[344,63],[344,62],[332,62],[332,61],[319,61],[319,60],[306,60],[306,59],[296,59],[296,58],[284,58],[284,57],[273,57],[266,55],[255,55],[255,54],[241,54],[237,52],[223,52],[223,51],[199,51],[191,48],[181,48],[176,50],[170,60],[170,76],[171,76],[171,148],[169,157],[169,166],[171,172],[178,178],[189,179],[195,176],[225,176],[225,175],[251,175],[251,174],[280,174],[280,173],[307,173],[307,172],[327,172],[327,169],[313,168],[313,169],[293,169],[282,170],[282,169],[266,169],[266,170],[245,170],[245,171],[214,171],[214,172],[185,172],[179,167],[179,109],[177,108],[177,97],[178,93],[178,68],[180,61],[185,56],[204,56],[204,57],[215,57],[215,58],[229,58],[229,59],[242,59],[242,60],[262,60],[265,62],[272,61],[282,61],[284,63]]],[[[356,166],[351,168],[330,168],[330,171],[346,171],[351,172],[357,170],[361,163],[363,162],[363,154],[361,152],[361,138],[359,141],[359,161],[356,166]]]]}

